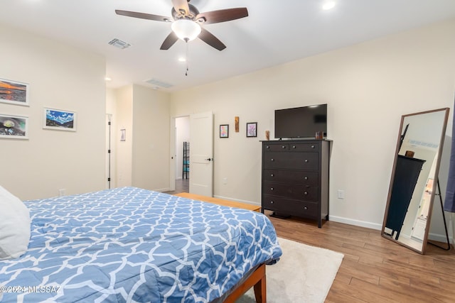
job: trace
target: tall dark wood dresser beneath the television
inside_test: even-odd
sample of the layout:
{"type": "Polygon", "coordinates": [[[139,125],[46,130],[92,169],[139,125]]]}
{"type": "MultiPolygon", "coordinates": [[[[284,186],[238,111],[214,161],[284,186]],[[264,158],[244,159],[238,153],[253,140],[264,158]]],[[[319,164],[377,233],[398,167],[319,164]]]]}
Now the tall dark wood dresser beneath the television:
{"type": "Polygon", "coordinates": [[[331,141],[262,141],[262,212],[328,220],[331,141]]]}

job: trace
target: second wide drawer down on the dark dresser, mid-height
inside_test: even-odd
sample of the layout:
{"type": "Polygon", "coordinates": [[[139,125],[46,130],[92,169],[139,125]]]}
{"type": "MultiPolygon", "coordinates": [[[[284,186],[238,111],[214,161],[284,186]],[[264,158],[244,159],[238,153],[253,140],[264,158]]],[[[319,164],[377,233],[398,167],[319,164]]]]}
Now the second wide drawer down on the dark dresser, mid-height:
{"type": "Polygon", "coordinates": [[[267,182],[294,183],[309,186],[319,185],[319,172],[306,170],[264,170],[262,178],[267,182]]]}

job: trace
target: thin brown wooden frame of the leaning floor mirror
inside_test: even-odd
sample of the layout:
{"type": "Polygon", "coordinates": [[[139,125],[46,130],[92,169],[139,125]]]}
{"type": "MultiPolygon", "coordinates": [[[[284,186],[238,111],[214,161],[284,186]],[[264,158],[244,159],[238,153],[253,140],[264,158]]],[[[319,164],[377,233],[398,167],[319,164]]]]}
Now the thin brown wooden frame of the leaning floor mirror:
{"type": "Polygon", "coordinates": [[[442,148],[444,146],[444,138],[446,136],[446,128],[447,128],[447,120],[448,119],[449,119],[449,108],[448,107],[444,107],[442,109],[434,109],[434,110],[431,110],[431,111],[420,111],[418,113],[406,114],[406,115],[402,115],[401,116],[400,129],[398,131],[397,145],[396,145],[396,148],[395,148],[395,158],[393,160],[393,166],[392,166],[392,176],[390,177],[389,192],[388,192],[388,195],[387,195],[387,205],[385,206],[384,221],[382,221],[381,236],[383,238],[387,238],[390,241],[398,243],[401,246],[405,246],[407,248],[410,248],[411,250],[414,250],[417,253],[421,253],[422,255],[425,253],[425,249],[427,248],[428,235],[429,235],[429,226],[430,226],[431,219],[432,219],[434,196],[435,196],[435,193],[436,193],[436,190],[437,190],[437,183],[438,183],[437,181],[439,179],[439,166],[441,164],[442,148]],[[407,244],[402,243],[400,241],[397,241],[397,240],[395,240],[395,238],[388,236],[385,233],[385,227],[386,227],[385,224],[387,222],[387,215],[389,214],[390,199],[392,197],[392,186],[393,186],[394,179],[395,179],[395,170],[396,170],[396,167],[397,167],[398,153],[400,153],[400,147],[401,147],[400,138],[402,136],[403,125],[404,125],[405,118],[409,117],[409,116],[417,116],[417,115],[421,115],[421,114],[430,114],[430,113],[434,113],[434,112],[437,112],[437,111],[445,111],[445,115],[444,115],[444,121],[443,121],[442,129],[441,129],[441,137],[440,137],[440,140],[439,140],[439,150],[438,150],[438,153],[437,153],[437,157],[438,158],[437,158],[436,167],[435,167],[435,170],[434,170],[434,180],[435,180],[435,182],[433,182],[432,194],[431,194],[431,197],[429,199],[429,211],[428,211],[428,218],[427,218],[427,226],[425,228],[424,239],[423,239],[423,243],[422,243],[422,250],[417,250],[416,248],[413,248],[412,246],[408,246],[407,244]]]}

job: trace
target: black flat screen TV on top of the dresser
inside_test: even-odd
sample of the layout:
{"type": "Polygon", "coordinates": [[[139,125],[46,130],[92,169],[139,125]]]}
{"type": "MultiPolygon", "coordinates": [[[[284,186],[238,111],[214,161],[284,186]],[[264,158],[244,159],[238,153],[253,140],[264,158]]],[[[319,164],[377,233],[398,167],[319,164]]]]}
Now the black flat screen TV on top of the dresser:
{"type": "Polygon", "coordinates": [[[315,138],[317,131],[327,136],[327,104],[275,111],[275,138],[315,138]]]}

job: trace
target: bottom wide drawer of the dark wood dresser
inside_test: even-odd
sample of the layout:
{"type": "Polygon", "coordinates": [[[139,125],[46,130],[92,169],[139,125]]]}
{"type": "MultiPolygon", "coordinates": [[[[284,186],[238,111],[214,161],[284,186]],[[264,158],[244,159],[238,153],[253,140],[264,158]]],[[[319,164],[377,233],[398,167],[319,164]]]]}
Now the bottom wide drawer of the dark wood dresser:
{"type": "Polygon", "coordinates": [[[271,211],[290,214],[291,216],[303,216],[309,219],[317,219],[319,208],[316,202],[301,202],[293,199],[274,197],[264,194],[262,208],[271,211]]]}

